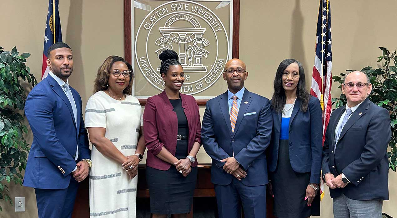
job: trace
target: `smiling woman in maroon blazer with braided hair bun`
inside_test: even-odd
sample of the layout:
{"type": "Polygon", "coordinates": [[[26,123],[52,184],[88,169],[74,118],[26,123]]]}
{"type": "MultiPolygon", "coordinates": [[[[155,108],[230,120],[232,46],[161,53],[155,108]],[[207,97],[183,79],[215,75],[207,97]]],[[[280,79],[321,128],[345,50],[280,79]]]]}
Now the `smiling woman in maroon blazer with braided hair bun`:
{"type": "Polygon", "coordinates": [[[190,212],[197,180],[201,126],[196,100],[179,93],[185,76],[175,51],[160,56],[162,93],[148,98],[143,113],[148,148],[146,180],[153,218],[185,218],[190,212]]]}

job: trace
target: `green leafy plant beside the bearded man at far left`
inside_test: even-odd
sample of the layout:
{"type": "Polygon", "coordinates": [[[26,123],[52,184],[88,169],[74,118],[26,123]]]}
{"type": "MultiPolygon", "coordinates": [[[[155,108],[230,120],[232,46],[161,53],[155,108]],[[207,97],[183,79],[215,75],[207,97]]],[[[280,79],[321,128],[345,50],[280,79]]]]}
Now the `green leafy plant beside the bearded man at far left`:
{"type": "MultiPolygon", "coordinates": [[[[26,167],[29,144],[23,137],[27,127],[21,114],[26,95],[22,82],[36,85],[37,81],[26,66],[29,53],[19,55],[17,48],[4,51],[0,47],[0,200],[10,202],[10,182],[22,184],[21,172],[26,167]],[[23,81],[22,81],[23,80],[23,81]]],[[[0,212],[2,207],[0,207],[0,212]]]]}

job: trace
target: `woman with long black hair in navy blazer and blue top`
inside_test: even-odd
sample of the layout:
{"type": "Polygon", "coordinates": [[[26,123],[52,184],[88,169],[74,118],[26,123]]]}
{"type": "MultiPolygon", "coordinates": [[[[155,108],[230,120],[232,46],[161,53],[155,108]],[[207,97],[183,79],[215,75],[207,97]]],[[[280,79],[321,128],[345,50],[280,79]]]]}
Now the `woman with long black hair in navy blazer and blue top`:
{"type": "Polygon", "coordinates": [[[272,97],[273,131],[269,146],[269,190],[274,216],[320,216],[316,198],[322,161],[322,109],[305,87],[299,61],[286,59],[277,69],[272,97]],[[313,205],[312,205],[313,203],[313,205]]]}

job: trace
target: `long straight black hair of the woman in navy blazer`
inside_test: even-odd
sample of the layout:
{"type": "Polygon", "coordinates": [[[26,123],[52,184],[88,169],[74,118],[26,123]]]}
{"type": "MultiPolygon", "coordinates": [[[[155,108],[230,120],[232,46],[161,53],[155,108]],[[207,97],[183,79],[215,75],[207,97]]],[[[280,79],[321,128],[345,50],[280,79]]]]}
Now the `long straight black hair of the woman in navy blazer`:
{"type": "Polygon", "coordinates": [[[289,64],[297,63],[299,66],[299,82],[297,87],[297,98],[301,100],[301,110],[306,112],[308,109],[310,94],[306,91],[306,82],[304,78],[304,69],[302,64],[295,59],[285,59],[281,61],[276,71],[276,78],[274,79],[274,93],[272,97],[272,108],[278,114],[283,112],[285,106],[285,91],[283,88],[283,72],[289,64]]]}

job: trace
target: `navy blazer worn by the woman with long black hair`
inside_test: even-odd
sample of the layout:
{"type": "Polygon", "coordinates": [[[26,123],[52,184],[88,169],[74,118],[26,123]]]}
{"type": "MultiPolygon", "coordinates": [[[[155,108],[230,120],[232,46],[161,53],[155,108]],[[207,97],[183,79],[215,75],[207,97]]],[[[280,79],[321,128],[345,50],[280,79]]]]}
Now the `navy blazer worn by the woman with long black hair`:
{"type": "MultiPolygon", "coordinates": [[[[273,132],[269,148],[269,170],[277,167],[280,141],[281,113],[272,110],[273,132]]],[[[301,110],[297,98],[289,119],[288,150],[292,169],[297,173],[310,172],[310,183],[320,183],[322,159],[322,110],[320,101],[310,95],[308,109],[301,110]]],[[[286,178],[287,179],[287,178],[286,178]]]]}

